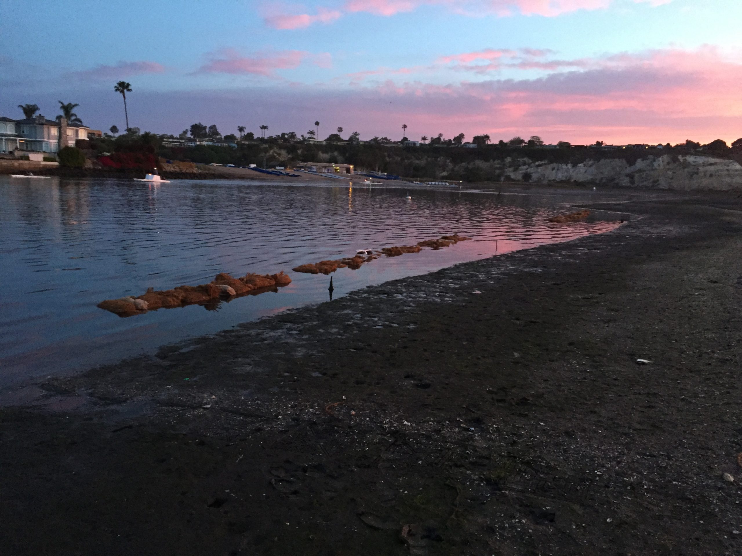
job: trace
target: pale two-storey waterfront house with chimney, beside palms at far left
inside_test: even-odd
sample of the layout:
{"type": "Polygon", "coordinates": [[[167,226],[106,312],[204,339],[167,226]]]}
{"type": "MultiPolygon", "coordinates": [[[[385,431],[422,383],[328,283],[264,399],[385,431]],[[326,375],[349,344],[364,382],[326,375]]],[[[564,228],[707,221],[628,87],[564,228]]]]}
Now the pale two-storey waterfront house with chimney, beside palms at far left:
{"type": "Polygon", "coordinates": [[[88,128],[81,124],[68,125],[67,120],[0,117],[0,153],[58,153],[64,147],[74,147],[77,139],[88,139],[88,128]]]}

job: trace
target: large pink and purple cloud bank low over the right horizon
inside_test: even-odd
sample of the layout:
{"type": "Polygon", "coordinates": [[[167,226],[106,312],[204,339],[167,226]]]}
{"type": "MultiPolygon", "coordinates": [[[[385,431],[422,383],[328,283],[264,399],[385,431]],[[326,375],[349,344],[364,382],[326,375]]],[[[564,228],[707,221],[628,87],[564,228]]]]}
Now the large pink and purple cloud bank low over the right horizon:
{"type": "MultiPolygon", "coordinates": [[[[404,119],[429,136],[536,134],[548,142],[573,143],[710,142],[742,136],[742,100],[736,93],[742,89],[742,62],[715,47],[533,63],[553,64],[548,68],[553,72],[536,79],[442,86],[390,80],[356,85],[352,103],[363,107],[356,113],[364,125],[353,125],[384,135],[390,132],[379,129],[378,122],[404,119]]],[[[346,104],[351,100],[332,106],[339,110],[346,104]]]]}

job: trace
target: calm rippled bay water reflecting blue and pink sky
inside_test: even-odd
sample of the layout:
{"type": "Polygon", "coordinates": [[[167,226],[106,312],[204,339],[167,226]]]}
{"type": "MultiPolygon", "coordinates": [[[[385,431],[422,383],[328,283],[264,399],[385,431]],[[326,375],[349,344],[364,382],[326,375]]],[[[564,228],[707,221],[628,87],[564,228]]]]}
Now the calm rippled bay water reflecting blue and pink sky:
{"type": "MultiPolygon", "coordinates": [[[[59,374],[213,334],[239,322],[327,298],[329,277],[297,274],[305,262],[359,248],[412,245],[458,232],[473,236],[439,251],[382,257],[334,276],[335,297],[366,285],[457,262],[567,241],[608,222],[548,224],[559,197],[496,196],[374,186],[275,185],[179,180],[0,176],[0,385],[59,374]],[[121,319],[102,299],[148,287],[209,282],[222,271],[288,272],[277,294],[121,319]]],[[[563,208],[561,209],[563,210],[563,208]]]]}

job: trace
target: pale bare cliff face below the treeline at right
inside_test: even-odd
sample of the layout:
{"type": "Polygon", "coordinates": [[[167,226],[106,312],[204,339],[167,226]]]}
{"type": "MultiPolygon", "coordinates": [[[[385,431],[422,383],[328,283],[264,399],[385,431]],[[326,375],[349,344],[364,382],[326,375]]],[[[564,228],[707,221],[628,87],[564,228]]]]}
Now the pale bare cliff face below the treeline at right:
{"type": "Polygon", "coordinates": [[[516,163],[522,165],[508,168],[506,175],[510,179],[522,180],[530,175],[532,182],[580,182],[683,191],[742,190],[742,165],[734,160],[707,156],[648,156],[634,165],[620,159],[588,160],[578,165],[527,160],[516,163]]]}

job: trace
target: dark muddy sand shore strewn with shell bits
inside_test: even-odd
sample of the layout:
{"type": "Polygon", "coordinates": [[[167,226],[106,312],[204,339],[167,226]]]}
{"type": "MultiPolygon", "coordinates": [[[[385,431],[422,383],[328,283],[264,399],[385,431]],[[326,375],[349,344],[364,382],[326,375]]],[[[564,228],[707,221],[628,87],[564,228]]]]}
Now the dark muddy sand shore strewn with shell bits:
{"type": "Polygon", "coordinates": [[[595,208],[643,217],[16,392],[1,552],[742,553],[742,197],[595,208]]]}

